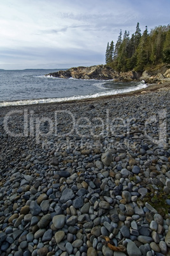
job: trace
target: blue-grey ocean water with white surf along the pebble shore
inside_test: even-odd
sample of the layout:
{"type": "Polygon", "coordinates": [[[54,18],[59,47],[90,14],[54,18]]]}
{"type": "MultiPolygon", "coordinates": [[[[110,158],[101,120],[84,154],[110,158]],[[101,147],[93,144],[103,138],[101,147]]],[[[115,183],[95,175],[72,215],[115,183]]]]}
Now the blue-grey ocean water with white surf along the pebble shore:
{"type": "Polygon", "coordinates": [[[0,69],[0,106],[55,103],[122,94],[145,88],[144,82],[78,80],[45,76],[60,69],[0,69]]]}

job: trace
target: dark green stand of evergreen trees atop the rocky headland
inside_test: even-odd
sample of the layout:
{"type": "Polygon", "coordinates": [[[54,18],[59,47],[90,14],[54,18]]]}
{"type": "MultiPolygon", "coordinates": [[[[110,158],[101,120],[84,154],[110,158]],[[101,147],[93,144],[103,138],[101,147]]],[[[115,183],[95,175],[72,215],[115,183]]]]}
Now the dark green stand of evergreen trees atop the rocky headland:
{"type": "Polygon", "coordinates": [[[160,25],[150,33],[146,26],[141,33],[138,22],[131,38],[120,30],[117,43],[111,41],[106,48],[106,64],[118,72],[142,72],[162,63],[170,64],[170,25],[160,25]]]}

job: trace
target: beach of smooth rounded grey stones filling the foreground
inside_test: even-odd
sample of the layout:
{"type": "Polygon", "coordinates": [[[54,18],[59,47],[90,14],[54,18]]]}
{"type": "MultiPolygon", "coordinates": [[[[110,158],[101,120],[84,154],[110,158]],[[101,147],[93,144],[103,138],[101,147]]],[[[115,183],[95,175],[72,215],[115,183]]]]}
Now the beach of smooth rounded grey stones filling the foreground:
{"type": "MultiPolygon", "coordinates": [[[[6,134],[9,109],[2,108],[0,255],[170,255],[169,96],[167,90],[29,106],[34,120],[45,113],[52,118],[56,108],[81,117],[71,134],[64,112],[57,134],[48,134],[48,124],[42,123],[47,135],[40,134],[39,143],[6,134]],[[110,129],[101,131],[95,122],[106,120],[106,110],[110,129]],[[91,132],[82,117],[91,120],[91,132]],[[129,120],[128,127],[122,120],[129,120]],[[166,140],[159,141],[160,129],[166,140]],[[126,252],[111,250],[104,237],[126,252]]],[[[9,120],[18,133],[22,124],[17,113],[9,120]]]]}

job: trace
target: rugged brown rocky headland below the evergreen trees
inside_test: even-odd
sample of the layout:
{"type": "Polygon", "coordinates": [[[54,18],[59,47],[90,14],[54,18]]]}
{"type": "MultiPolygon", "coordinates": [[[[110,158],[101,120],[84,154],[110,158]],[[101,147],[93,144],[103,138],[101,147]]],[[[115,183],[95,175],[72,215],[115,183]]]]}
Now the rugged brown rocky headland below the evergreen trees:
{"type": "Polygon", "coordinates": [[[162,83],[170,80],[170,69],[168,66],[162,66],[155,71],[144,71],[139,73],[129,71],[118,73],[109,66],[97,65],[91,67],[70,68],[66,71],[49,73],[46,76],[56,78],[76,78],[76,79],[95,79],[95,80],[114,80],[115,82],[132,82],[145,80],[146,83],[162,83]]]}

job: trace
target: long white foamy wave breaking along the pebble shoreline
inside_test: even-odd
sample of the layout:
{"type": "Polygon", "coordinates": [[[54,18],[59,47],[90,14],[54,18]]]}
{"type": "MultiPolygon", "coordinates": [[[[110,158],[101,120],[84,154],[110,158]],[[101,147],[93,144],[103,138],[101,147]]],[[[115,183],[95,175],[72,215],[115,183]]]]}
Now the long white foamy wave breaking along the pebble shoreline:
{"type": "Polygon", "coordinates": [[[48,98],[48,99],[31,99],[31,100],[26,99],[26,100],[19,100],[19,101],[3,101],[3,102],[0,102],[0,107],[42,104],[42,103],[60,103],[60,102],[66,102],[66,101],[76,101],[80,99],[92,99],[92,98],[97,98],[101,96],[112,96],[116,94],[124,94],[124,93],[132,92],[135,90],[145,89],[146,87],[148,87],[148,85],[146,85],[146,83],[142,81],[141,83],[139,83],[139,85],[134,85],[133,87],[130,87],[130,88],[110,90],[109,92],[108,91],[97,92],[96,94],[88,94],[85,96],[80,95],[80,96],[48,98]]]}

